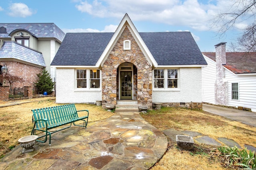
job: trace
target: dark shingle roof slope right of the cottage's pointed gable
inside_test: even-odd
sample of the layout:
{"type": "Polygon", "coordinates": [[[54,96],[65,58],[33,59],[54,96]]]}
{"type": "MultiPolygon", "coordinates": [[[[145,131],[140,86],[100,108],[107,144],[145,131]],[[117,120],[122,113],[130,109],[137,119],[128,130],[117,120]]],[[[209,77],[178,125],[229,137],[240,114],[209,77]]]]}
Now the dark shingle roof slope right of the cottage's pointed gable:
{"type": "Polygon", "coordinates": [[[158,65],[206,65],[188,31],[140,33],[158,65]]]}

